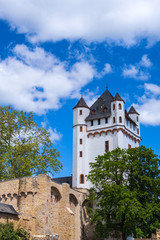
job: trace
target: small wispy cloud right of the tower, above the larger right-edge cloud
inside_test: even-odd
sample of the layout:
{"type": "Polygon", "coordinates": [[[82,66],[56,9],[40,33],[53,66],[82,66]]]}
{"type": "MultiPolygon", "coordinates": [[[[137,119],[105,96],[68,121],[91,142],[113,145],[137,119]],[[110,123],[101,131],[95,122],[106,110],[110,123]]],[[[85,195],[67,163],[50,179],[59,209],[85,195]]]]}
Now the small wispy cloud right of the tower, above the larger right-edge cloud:
{"type": "Polygon", "coordinates": [[[136,80],[146,81],[150,78],[148,68],[152,66],[152,63],[147,55],[143,55],[140,62],[135,65],[125,65],[122,75],[128,78],[134,78],[136,80]]]}

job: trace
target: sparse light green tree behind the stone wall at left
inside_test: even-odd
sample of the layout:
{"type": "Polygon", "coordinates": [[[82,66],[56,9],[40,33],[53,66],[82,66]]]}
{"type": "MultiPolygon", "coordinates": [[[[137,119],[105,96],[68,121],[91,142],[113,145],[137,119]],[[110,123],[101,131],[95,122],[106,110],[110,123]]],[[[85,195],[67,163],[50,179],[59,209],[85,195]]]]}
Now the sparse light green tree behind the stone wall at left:
{"type": "Polygon", "coordinates": [[[62,164],[49,132],[33,114],[0,107],[0,180],[58,172],[62,164]]]}

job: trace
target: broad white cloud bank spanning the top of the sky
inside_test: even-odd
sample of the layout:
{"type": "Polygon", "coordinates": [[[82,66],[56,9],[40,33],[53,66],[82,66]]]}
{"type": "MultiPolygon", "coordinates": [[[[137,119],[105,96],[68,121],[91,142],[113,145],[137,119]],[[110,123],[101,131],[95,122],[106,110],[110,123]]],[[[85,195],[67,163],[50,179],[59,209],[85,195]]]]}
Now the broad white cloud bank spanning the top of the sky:
{"type": "Polygon", "coordinates": [[[1,0],[0,18],[33,42],[160,40],[159,0],[1,0]]]}

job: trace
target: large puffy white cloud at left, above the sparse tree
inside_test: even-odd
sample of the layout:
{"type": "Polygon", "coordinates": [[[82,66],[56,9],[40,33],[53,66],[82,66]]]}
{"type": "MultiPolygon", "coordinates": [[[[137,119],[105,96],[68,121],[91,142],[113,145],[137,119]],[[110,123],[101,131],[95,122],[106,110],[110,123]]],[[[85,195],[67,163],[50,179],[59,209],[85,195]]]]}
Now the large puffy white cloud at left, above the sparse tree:
{"type": "Polygon", "coordinates": [[[72,98],[93,80],[96,71],[85,61],[68,67],[41,48],[29,50],[24,45],[15,54],[0,61],[0,104],[43,114],[58,109],[61,100],[72,98]]]}

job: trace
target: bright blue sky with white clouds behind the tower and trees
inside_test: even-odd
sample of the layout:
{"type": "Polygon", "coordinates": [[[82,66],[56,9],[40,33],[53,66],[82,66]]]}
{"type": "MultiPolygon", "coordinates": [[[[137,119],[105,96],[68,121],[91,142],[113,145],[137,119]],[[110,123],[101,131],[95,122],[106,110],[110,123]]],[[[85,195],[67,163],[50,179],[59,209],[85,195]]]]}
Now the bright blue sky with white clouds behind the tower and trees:
{"type": "Polygon", "coordinates": [[[33,111],[72,173],[72,108],[108,87],[160,155],[159,0],[0,0],[0,104],[33,111]]]}

